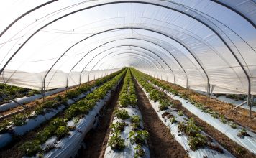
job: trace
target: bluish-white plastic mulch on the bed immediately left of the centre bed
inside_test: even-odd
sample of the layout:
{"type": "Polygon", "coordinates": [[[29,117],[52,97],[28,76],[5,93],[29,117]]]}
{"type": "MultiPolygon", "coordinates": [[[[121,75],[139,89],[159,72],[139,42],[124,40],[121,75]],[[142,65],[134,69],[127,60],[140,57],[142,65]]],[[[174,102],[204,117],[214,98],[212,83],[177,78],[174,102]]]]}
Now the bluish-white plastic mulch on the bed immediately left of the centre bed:
{"type": "MultiPolygon", "coordinates": [[[[119,85],[120,81],[112,88],[115,90],[117,85],[119,85]]],[[[75,157],[78,149],[81,148],[81,144],[84,136],[90,131],[93,126],[96,126],[99,111],[106,104],[106,101],[109,101],[111,97],[111,90],[106,94],[103,100],[96,103],[93,110],[91,110],[83,119],[78,121],[76,124],[76,129],[70,131],[70,136],[66,136],[60,141],[56,140],[56,136],[52,136],[52,138],[48,139],[45,144],[42,145],[43,148],[47,147],[47,145],[54,145],[56,149],[52,149],[50,152],[47,152],[43,155],[43,157],[75,157]]],[[[74,126],[74,119],[68,121],[68,126],[74,126]]]]}

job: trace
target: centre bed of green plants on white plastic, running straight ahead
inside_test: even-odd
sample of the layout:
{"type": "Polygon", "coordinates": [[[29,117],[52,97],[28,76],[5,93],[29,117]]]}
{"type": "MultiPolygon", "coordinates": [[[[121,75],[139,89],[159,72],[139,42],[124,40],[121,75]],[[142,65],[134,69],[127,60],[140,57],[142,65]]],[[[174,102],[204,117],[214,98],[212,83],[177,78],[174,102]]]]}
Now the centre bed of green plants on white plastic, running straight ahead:
{"type": "Polygon", "coordinates": [[[142,116],[137,108],[137,96],[128,69],[119,95],[118,107],[114,111],[108,147],[105,157],[150,157],[146,139],[149,133],[143,129],[142,116]]]}

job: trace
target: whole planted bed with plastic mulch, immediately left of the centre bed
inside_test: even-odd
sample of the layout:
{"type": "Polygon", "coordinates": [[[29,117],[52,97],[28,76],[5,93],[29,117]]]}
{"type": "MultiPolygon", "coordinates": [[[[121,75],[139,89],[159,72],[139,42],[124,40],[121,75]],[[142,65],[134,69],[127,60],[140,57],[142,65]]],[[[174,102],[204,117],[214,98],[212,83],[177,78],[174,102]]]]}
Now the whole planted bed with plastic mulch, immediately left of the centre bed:
{"type": "Polygon", "coordinates": [[[73,157],[86,133],[96,125],[98,113],[110,98],[111,90],[122,80],[124,71],[70,106],[63,115],[53,119],[35,139],[19,147],[24,156],[73,157]]]}

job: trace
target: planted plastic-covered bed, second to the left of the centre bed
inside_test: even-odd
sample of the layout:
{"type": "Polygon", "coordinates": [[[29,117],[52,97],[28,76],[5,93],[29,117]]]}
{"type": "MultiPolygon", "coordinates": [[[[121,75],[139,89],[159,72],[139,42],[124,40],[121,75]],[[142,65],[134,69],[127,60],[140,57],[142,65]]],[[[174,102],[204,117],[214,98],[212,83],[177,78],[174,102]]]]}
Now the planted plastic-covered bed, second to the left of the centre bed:
{"type": "Polygon", "coordinates": [[[22,136],[27,133],[27,131],[31,131],[45,121],[50,120],[60,111],[63,111],[71,104],[86,96],[86,94],[91,92],[94,87],[102,85],[107,80],[114,78],[114,76],[120,72],[121,71],[113,73],[91,83],[85,83],[75,90],[69,90],[63,96],[58,95],[48,98],[43,103],[36,102],[37,105],[35,105],[34,108],[29,109],[29,111],[24,111],[23,113],[4,119],[0,123],[0,140],[2,141],[0,147],[4,147],[12,141],[13,136],[22,136]]]}

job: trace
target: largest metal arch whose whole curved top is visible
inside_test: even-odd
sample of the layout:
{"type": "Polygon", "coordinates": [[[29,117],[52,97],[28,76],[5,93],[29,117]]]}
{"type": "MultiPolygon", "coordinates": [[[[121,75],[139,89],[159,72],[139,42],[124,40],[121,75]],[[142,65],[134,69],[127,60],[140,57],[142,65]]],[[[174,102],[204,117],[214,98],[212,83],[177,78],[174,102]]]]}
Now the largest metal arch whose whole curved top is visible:
{"type": "MultiPolygon", "coordinates": [[[[206,24],[205,22],[201,21],[201,19],[197,19],[196,17],[193,17],[191,16],[190,14],[186,13],[186,12],[183,12],[183,11],[180,11],[178,9],[175,9],[175,8],[172,8],[172,7],[169,7],[169,6],[163,6],[161,4],[155,4],[155,3],[152,3],[152,2],[146,2],[146,1],[112,1],[112,2],[109,2],[109,3],[104,3],[104,4],[96,4],[94,6],[88,6],[88,7],[85,7],[83,9],[78,9],[76,11],[72,11],[68,14],[65,14],[61,17],[58,17],[57,19],[54,19],[52,20],[51,22],[45,24],[44,26],[40,27],[40,29],[37,29],[37,31],[35,31],[32,35],[30,35],[26,41],[24,41],[22,43],[22,45],[14,52],[14,54],[9,58],[9,60],[7,60],[7,62],[4,64],[3,68],[1,68],[0,70],[0,75],[1,73],[4,71],[4,68],[6,68],[6,65],[8,65],[9,61],[12,60],[12,58],[14,57],[14,55],[17,54],[17,52],[19,52],[19,50],[35,35],[37,34],[37,32],[39,32],[41,29],[43,29],[44,27],[47,27],[48,25],[52,24],[53,22],[56,22],[58,21],[59,19],[62,19],[63,17],[67,17],[69,16],[70,14],[75,14],[76,12],[79,12],[79,11],[83,11],[83,10],[86,10],[86,9],[91,9],[91,8],[94,8],[94,7],[97,7],[97,6],[104,6],[104,5],[109,5],[109,4],[124,4],[124,3],[134,3],[134,4],[149,4],[149,5],[153,5],[153,6],[160,6],[160,7],[163,7],[163,8],[166,8],[166,9],[171,9],[173,11],[177,11],[179,12],[180,14],[184,14],[188,17],[191,17],[192,19],[195,19],[196,21],[200,22],[201,24],[204,24],[204,26],[208,27],[209,29],[211,29],[212,32],[214,32],[214,34],[216,34],[219,39],[224,43],[224,45],[229,49],[229,51],[232,53],[232,55],[234,56],[235,60],[237,60],[237,62],[239,63],[239,66],[240,68],[242,68],[245,76],[247,77],[247,81],[248,81],[248,103],[250,103],[250,97],[251,96],[251,81],[250,81],[250,75],[248,75],[247,71],[244,69],[244,67],[242,66],[242,63],[240,62],[240,60],[238,59],[238,57],[234,54],[234,52],[232,51],[232,49],[229,47],[229,45],[227,45],[227,42],[221,37],[220,34],[218,34],[218,32],[216,32],[215,29],[213,29],[212,27],[210,27],[208,24],[206,24]]],[[[207,85],[207,91],[209,92],[210,91],[210,86],[209,86],[209,80],[208,80],[208,85],[207,85]]],[[[250,118],[251,118],[251,113],[250,113],[250,118]]]]}

